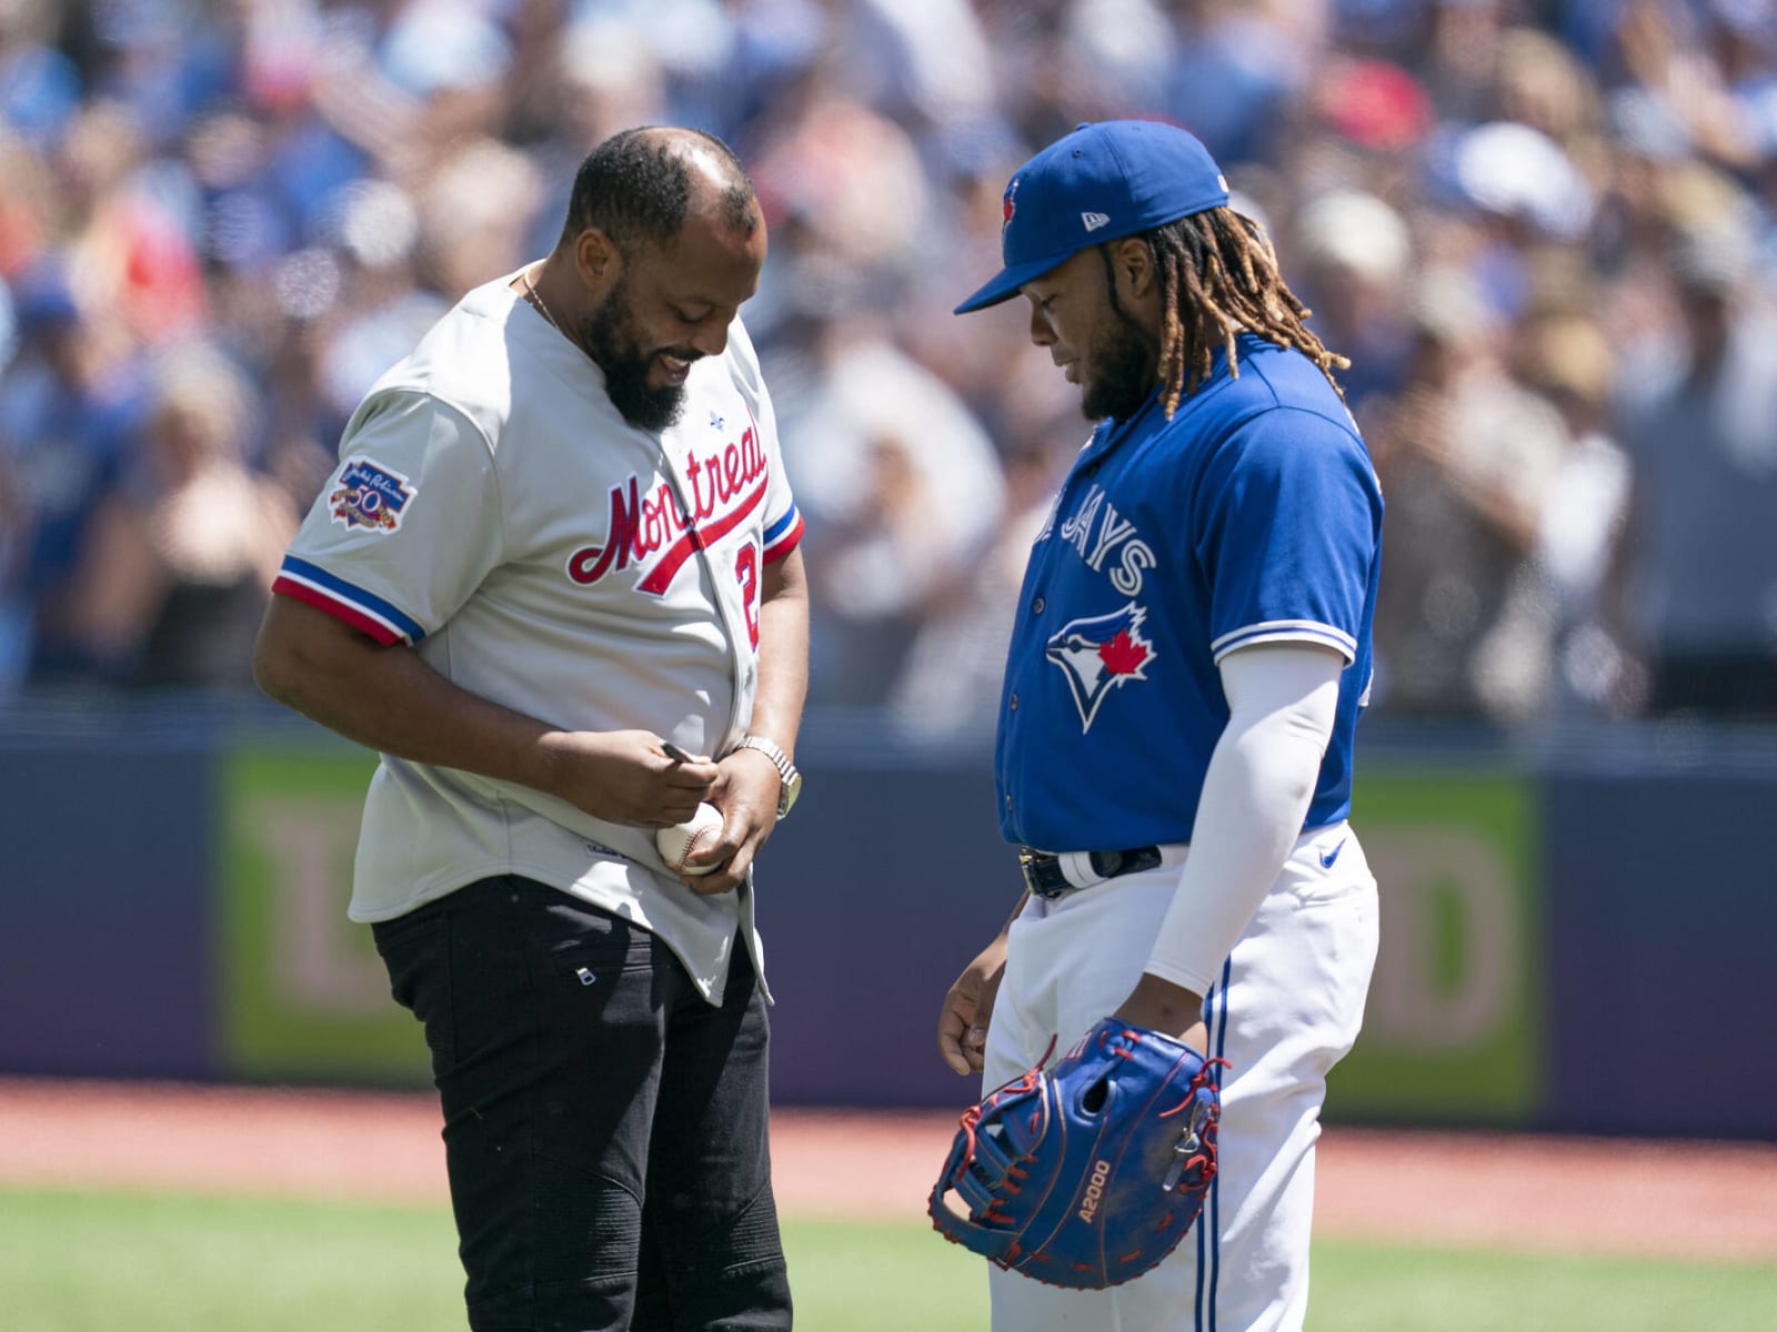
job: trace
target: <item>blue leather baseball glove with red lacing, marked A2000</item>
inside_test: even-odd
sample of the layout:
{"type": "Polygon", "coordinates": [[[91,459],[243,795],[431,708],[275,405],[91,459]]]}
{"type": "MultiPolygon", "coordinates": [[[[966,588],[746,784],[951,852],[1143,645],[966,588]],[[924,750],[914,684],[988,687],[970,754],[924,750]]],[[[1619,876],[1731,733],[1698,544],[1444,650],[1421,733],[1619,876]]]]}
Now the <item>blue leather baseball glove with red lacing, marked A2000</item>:
{"type": "Polygon", "coordinates": [[[1171,1254],[1203,1211],[1223,1060],[1116,1018],[1048,1073],[1045,1060],[963,1112],[931,1224],[1052,1286],[1120,1286],[1171,1254]]]}

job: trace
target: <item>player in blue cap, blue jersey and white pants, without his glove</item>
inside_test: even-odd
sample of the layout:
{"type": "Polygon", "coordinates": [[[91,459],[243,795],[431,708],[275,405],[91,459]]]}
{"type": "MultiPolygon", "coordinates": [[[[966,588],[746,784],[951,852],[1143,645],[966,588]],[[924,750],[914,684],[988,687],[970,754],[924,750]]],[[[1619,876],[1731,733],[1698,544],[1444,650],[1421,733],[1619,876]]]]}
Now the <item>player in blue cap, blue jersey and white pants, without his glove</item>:
{"type": "Polygon", "coordinates": [[[1031,551],[999,712],[1027,892],[944,1002],[986,1087],[1098,1019],[1224,1058],[1196,1233],[1104,1291],[992,1272],[1000,1332],[1301,1328],[1326,1074],[1375,881],[1345,822],[1383,497],[1333,371],[1203,146],[1082,124],[1006,188],[1031,341],[1098,423],[1031,551]]]}

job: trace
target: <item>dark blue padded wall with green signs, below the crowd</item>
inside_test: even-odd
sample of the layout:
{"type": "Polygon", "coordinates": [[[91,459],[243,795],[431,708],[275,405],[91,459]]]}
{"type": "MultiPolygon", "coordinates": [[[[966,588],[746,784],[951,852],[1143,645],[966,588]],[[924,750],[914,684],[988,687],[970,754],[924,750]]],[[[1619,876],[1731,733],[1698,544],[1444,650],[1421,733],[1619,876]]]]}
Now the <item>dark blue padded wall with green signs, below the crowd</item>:
{"type": "MultiPolygon", "coordinates": [[[[1777,742],[1374,730],[1383,957],[1329,1119],[1777,1138],[1777,742]]],[[[773,1096],[960,1106],[936,1009],[1020,892],[986,746],[812,716],[800,758],[759,874],[773,1096]]],[[[425,1085],[345,920],[373,764],[256,705],[0,716],[0,1073],[425,1085]]]]}

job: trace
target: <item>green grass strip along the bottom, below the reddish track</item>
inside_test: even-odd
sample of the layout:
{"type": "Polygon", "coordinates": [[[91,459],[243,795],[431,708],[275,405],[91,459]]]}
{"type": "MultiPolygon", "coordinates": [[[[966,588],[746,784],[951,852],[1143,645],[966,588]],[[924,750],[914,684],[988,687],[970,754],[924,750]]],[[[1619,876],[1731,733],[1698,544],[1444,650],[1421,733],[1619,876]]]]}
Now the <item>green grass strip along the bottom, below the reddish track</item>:
{"type": "MultiPolygon", "coordinates": [[[[462,1328],[450,1215],[0,1190],[7,1332],[462,1328]]],[[[981,1266],[919,1222],[785,1224],[803,1332],[976,1332],[981,1266]]],[[[1777,1266],[1326,1241],[1315,1332],[1768,1332],[1777,1266]]]]}

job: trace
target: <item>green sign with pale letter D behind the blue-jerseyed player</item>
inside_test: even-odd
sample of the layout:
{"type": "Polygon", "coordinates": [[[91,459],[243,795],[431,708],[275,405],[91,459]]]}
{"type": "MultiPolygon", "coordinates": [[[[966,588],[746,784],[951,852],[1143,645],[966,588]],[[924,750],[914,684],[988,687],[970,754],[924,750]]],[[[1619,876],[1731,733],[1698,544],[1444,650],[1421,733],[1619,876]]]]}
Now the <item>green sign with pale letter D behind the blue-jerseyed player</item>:
{"type": "Polygon", "coordinates": [[[1528,1122],[1546,1012],[1534,780],[1372,764],[1352,805],[1383,947],[1327,1117],[1528,1122]]]}

